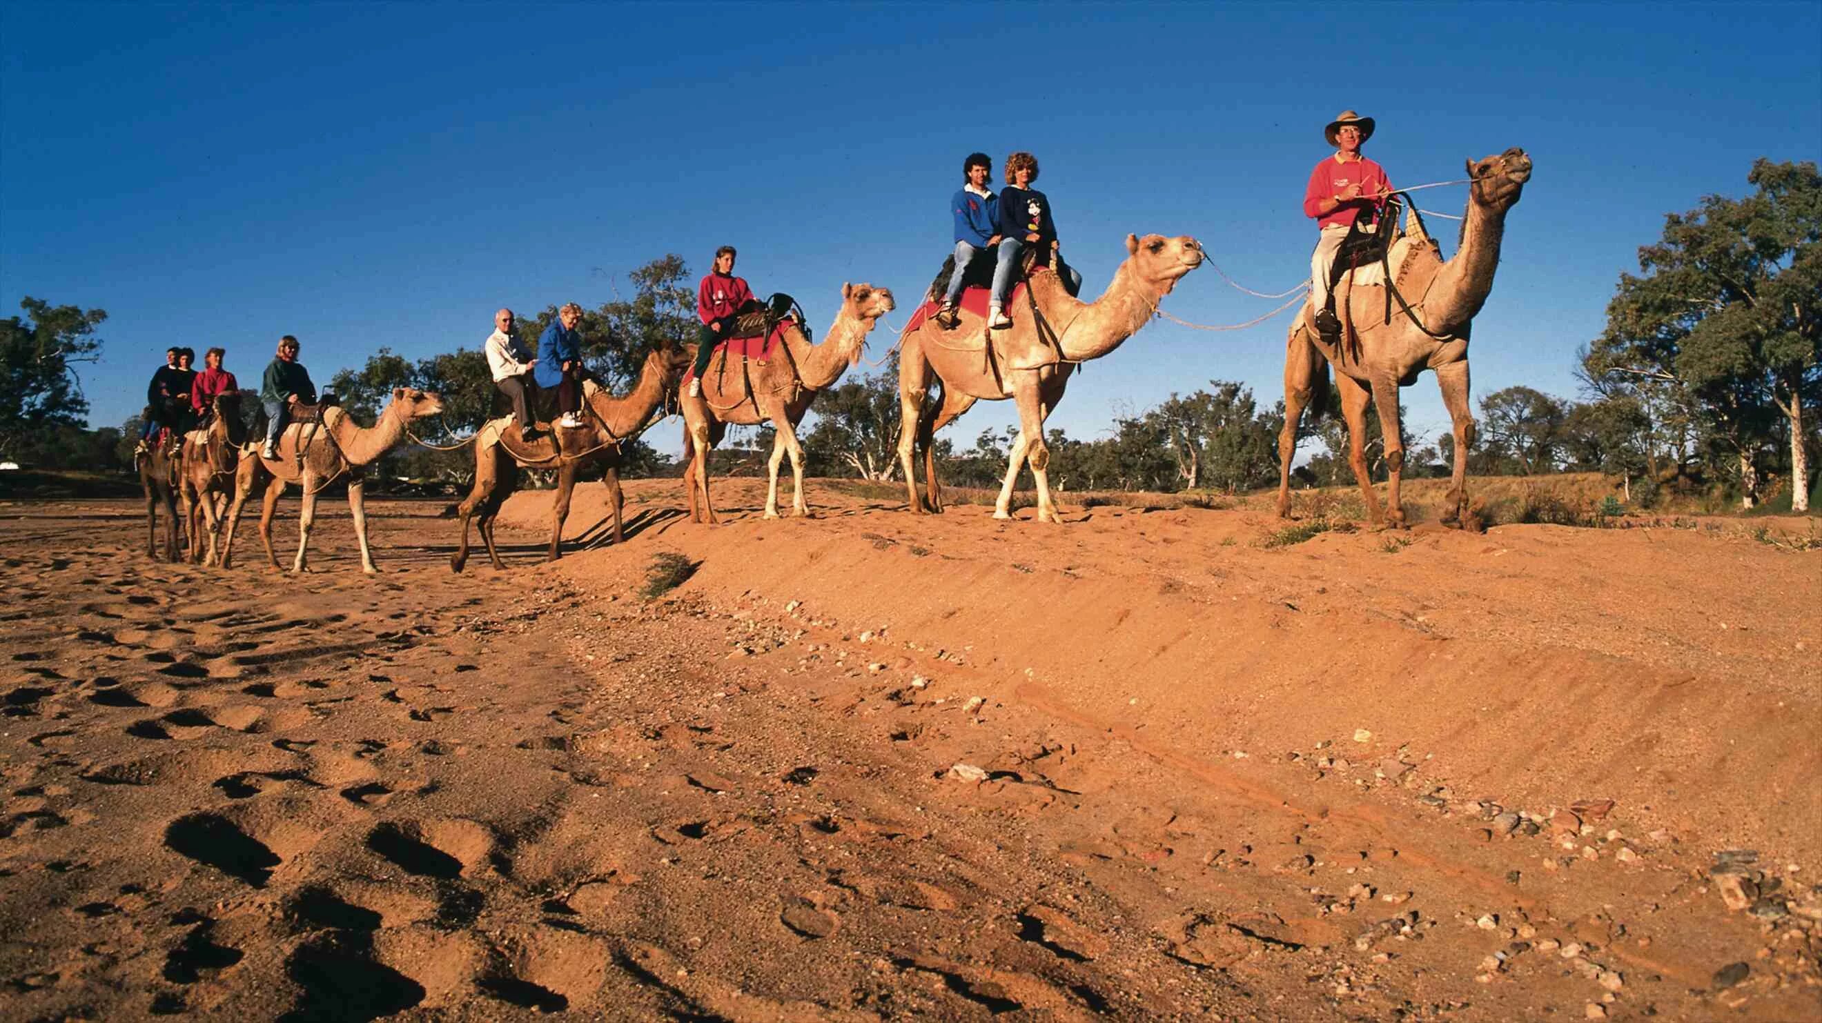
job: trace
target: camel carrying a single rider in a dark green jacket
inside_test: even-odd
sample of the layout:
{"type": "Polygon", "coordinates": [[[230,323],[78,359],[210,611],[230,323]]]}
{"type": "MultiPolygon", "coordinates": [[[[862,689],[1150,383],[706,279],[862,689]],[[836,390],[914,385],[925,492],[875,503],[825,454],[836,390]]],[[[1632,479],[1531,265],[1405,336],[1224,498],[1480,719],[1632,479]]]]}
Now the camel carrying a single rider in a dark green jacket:
{"type": "Polygon", "coordinates": [[[310,526],[317,517],[317,491],[346,475],[348,510],[353,512],[353,535],[361,541],[361,572],[368,575],[379,572],[374,568],[374,553],[366,546],[363,471],[404,437],[404,428],[410,420],[437,415],[439,411],[443,411],[443,399],[437,395],[397,388],[392,391],[392,400],[381,410],[379,422],[372,430],[355,424],[346,410],[330,406],[322,410],[322,422],[293,422],[286,426],[284,435],[279,437],[277,459],[262,457],[257,439],[248,442],[241,448],[233,508],[228,510],[222,568],[233,562],[233,532],[241,522],[241,508],[259,484],[266,486],[266,501],[259,515],[259,539],[266,544],[266,561],[271,568],[279,568],[279,557],[271,552],[271,513],[284,493],[284,486],[295,482],[302,490],[302,508],[297,515],[297,557],[292,561],[292,572],[310,572],[306,555],[310,552],[310,526]]]}

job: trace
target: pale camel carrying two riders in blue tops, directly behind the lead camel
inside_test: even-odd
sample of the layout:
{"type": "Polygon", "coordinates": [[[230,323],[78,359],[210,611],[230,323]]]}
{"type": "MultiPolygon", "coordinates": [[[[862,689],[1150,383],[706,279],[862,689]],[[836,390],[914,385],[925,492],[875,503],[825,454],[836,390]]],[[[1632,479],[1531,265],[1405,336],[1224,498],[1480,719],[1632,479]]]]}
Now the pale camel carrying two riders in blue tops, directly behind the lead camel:
{"type": "Polygon", "coordinates": [[[1170,295],[1182,275],[1203,264],[1203,246],[1181,235],[1126,235],[1126,260],[1099,300],[1079,302],[1064,291],[1055,273],[1031,273],[1028,288],[1042,311],[1044,329],[1031,317],[1031,302],[1018,299],[1006,311],[1013,326],[988,331],[986,319],[958,309],[960,326],[944,329],[937,317],[907,329],[898,351],[898,462],[906,471],[911,512],[942,512],[937,482],[933,439],[938,430],[973,408],[980,399],[1018,402],[1018,437],[1013,439],[1006,484],[993,506],[995,519],[1011,519],[1013,484],[1029,461],[1037,479],[1037,521],[1060,522],[1049,499],[1049,448],[1044,444],[1044,419],[1062,400],[1064,386],[1077,362],[1099,359],[1119,348],[1142,328],[1159,300],[1170,295]],[[1040,337],[1042,335],[1042,337],[1040,337]],[[926,406],[931,377],[940,384],[942,402],[926,406]],[[918,501],[913,462],[924,448],[924,491],[918,501]]]}

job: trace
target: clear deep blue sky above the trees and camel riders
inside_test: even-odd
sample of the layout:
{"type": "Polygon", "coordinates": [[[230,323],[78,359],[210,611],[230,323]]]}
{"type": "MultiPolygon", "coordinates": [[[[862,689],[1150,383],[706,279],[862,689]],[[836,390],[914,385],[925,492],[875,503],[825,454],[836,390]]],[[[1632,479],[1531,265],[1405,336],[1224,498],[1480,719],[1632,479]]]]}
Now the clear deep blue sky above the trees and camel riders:
{"type": "MultiPolygon", "coordinates": [[[[1308,273],[1323,126],[1377,118],[1396,184],[1525,147],[1474,329],[1474,395],[1574,395],[1574,351],[1667,211],[1822,149],[1822,4],[0,4],[0,315],[106,308],[93,424],[171,344],[257,379],[281,333],[326,380],[381,346],[477,348],[499,306],[594,306],[722,242],[818,331],[844,280],[900,313],[951,244],[971,149],[1042,160],[1099,295],[1128,231],[1195,235],[1257,291],[1308,273]]],[[[1419,193],[1459,213],[1463,187],[1419,193]]],[[[1432,220],[1452,251],[1454,228],[1432,220]]],[[[1275,302],[1212,268],[1164,309],[1275,302]]],[[[1290,313],[1153,322],[1051,417],[1090,439],[1210,379],[1281,395],[1290,313]]],[[[1418,433],[1447,426],[1432,377],[1418,433]]],[[[967,446],[1015,420],[978,404],[967,446]]],[[[652,433],[678,450],[678,430],[652,433]]]]}

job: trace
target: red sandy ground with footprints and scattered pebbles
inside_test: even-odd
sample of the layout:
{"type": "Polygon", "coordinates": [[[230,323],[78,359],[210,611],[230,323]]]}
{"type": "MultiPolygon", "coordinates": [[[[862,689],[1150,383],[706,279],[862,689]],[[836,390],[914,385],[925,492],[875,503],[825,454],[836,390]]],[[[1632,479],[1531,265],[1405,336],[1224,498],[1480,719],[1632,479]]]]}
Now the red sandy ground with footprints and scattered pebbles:
{"type": "Polygon", "coordinates": [[[0,1018],[1822,1014],[1822,553],[629,493],[377,579],[0,506],[0,1018]]]}

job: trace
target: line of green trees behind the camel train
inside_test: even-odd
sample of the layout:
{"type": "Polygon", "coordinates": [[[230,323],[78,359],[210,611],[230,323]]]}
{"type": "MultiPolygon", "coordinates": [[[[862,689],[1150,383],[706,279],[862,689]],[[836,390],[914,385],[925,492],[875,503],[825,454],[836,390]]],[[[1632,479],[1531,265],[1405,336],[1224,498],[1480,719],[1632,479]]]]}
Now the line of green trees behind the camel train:
{"type": "MultiPolygon", "coordinates": [[[[1822,364],[1822,178],[1813,162],[1756,160],[1744,198],[1704,197],[1665,217],[1660,240],[1640,248],[1640,273],[1622,273],[1600,337],[1578,353],[1581,400],[1514,386],[1479,399],[1481,439],[1469,455],[1476,475],[1603,471],[1625,481],[1627,499],[1649,506],[1662,488],[1724,488],[1751,508],[1786,493],[1807,510],[1815,488],[1822,364]]],[[[623,391],[665,340],[694,337],[694,288],[685,260],[663,255],[629,275],[616,293],[583,313],[583,357],[623,391]]],[[[0,459],[40,466],[129,466],[135,422],[87,430],[77,368],[93,362],[107,313],[51,306],[27,297],[24,317],[0,320],[0,459]]],[[[556,306],[521,313],[523,340],[536,340],[556,306]]],[[[479,344],[410,360],[379,349],[328,388],[357,417],[374,417],[394,388],[443,395],[441,437],[454,441],[499,415],[479,344]]],[[[1308,417],[1306,437],[1325,451],[1297,470],[1306,484],[1346,484],[1346,433],[1336,399],[1308,417]]],[[[1407,419],[1408,422],[1408,419],[1407,419]]],[[[1368,459],[1383,479],[1379,420],[1366,417],[1368,459]]],[[[849,377],[816,399],[804,435],[807,471],[896,481],[898,371],[889,355],[878,371],[849,377]]],[[[1093,439],[1051,430],[1051,481],[1060,490],[1217,490],[1275,484],[1283,402],[1261,408],[1252,388],[1210,380],[1172,393],[1142,411],[1115,417],[1093,439]]],[[[432,426],[432,430],[437,430],[432,426]]],[[[1011,431],[986,430],[971,446],[937,439],[944,479],[998,486],[1011,431]]],[[[426,437],[430,439],[430,437],[426,437]]],[[[434,439],[432,439],[434,441],[434,439]]],[[[1405,437],[1407,475],[1447,475],[1452,437],[1405,437]]],[[[716,471],[758,470],[771,428],[736,430],[716,451],[716,471]]],[[[632,441],[629,475],[680,471],[645,439],[632,441]]],[[[463,484],[468,451],[399,448],[383,475],[463,484]]]]}

